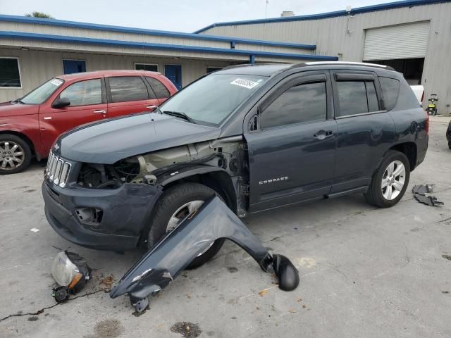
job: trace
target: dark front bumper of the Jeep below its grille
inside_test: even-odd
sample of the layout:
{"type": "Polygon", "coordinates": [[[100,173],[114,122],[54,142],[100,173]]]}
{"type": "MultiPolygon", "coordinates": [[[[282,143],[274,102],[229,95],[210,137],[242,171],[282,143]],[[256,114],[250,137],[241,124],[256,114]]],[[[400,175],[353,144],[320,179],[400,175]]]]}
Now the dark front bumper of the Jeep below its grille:
{"type": "Polygon", "coordinates": [[[160,189],[147,184],[88,189],[42,183],[45,215],[51,227],[70,242],[100,250],[135,248],[160,194],[160,189]],[[77,208],[100,209],[101,221],[96,226],[83,223],[77,208]]]}

